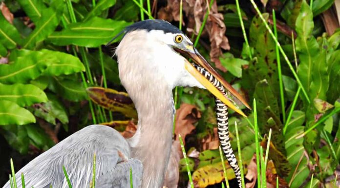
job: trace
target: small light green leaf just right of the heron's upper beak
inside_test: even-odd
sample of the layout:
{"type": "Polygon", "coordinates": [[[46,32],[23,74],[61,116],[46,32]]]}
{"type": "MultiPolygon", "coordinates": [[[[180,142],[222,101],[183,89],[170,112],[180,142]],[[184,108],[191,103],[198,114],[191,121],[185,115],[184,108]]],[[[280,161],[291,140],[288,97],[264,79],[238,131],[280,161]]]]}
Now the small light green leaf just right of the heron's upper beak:
{"type": "Polygon", "coordinates": [[[242,65],[248,64],[248,61],[234,58],[233,54],[225,53],[225,58],[220,58],[222,65],[235,77],[241,78],[242,77],[242,65]]]}

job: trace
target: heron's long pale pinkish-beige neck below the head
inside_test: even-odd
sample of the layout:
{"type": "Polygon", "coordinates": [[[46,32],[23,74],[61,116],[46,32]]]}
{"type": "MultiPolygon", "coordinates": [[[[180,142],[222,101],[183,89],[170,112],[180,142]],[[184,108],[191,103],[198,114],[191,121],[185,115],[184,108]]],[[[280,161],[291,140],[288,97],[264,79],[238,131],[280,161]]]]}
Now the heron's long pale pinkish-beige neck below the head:
{"type": "Polygon", "coordinates": [[[132,97],[139,121],[130,143],[132,157],[143,163],[142,188],[161,188],[170,158],[174,106],[171,88],[149,89],[132,97]]]}

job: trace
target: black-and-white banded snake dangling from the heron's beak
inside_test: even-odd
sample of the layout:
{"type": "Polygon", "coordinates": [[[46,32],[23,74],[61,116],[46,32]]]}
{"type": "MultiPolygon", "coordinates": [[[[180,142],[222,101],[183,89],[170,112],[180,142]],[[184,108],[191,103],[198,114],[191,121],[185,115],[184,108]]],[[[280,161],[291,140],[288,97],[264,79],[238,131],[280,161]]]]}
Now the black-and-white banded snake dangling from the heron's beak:
{"type": "MultiPolygon", "coordinates": [[[[193,66],[204,76],[206,77],[210,83],[212,83],[217,89],[219,89],[224,95],[227,95],[227,92],[224,86],[214,78],[208,71],[204,68],[193,64],[193,66]]],[[[238,166],[236,157],[234,155],[233,148],[230,144],[229,138],[229,128],[228,128],[228,106],[222,103],[219,99],[215,98],[215,109],[216,109],[216,119],[217,119],[217,133],[220,144],[222,146],[223,153],[229,162],[229,165],[233,168],[235,177],[238,183],[238,187],[242,188],[242,179],[241,179],[241,171],[238,166]]]]}

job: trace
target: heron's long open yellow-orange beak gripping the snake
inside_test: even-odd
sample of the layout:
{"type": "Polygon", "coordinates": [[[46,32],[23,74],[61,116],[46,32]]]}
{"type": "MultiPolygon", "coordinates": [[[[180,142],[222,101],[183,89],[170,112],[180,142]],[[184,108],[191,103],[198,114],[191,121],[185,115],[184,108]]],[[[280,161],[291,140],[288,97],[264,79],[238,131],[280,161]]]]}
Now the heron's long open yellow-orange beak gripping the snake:
{"type": "MultiPolygon", "coordinates": [[[[188,49],[176,49],[177,52],[189,56],[193,62],[208,71],[215,79],[217,79],[232,95],[250,109],[247,101],[227,82],[221,75],[219,75],[212,66],[203,58],[203,56],[193,46],[187,46],[188,49]]],[[[196,80],[205,86],[217,99],[228,105],[235,112],[247,117],[242,110],[236,107],[227,96],[225,96],[219,89],[217,89],[204,75],[202,75],[188,60],[185,61],[185,68],[191,73],[196,80]]]]}

